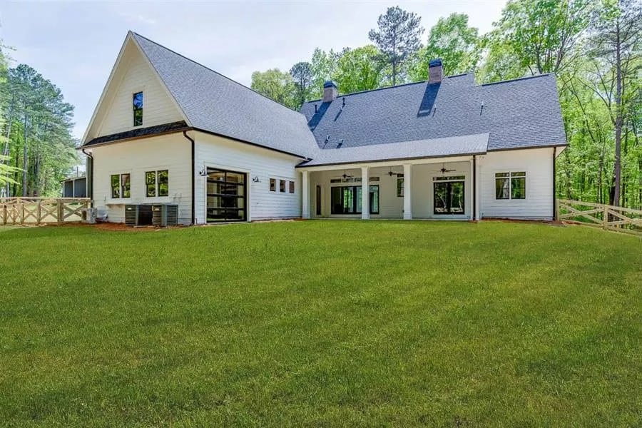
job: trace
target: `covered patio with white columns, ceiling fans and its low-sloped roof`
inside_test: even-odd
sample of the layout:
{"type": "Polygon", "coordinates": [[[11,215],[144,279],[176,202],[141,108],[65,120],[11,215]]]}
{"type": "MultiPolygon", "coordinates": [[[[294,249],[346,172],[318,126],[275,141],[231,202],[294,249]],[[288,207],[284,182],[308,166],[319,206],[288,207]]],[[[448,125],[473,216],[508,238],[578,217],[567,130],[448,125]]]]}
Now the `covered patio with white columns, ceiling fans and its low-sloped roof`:
{"type": "Polygon", "coordinates": [[[478,157],[487,142],[477,134],[395,143],[394,151],[324,150],[299,167],[302,217],[478,220],[478,157]]]}

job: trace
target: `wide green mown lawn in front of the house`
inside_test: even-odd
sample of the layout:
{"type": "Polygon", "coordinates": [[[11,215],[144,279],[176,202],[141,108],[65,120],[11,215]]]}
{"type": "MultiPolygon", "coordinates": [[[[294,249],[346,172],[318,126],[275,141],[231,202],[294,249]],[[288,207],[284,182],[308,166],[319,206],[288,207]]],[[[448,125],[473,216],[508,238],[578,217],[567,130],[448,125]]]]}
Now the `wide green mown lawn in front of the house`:
{"type": "Polygon", "coordinates": [[[633,236],[346,220],[0,248],[0,424],[642,423],[633,236]]]}

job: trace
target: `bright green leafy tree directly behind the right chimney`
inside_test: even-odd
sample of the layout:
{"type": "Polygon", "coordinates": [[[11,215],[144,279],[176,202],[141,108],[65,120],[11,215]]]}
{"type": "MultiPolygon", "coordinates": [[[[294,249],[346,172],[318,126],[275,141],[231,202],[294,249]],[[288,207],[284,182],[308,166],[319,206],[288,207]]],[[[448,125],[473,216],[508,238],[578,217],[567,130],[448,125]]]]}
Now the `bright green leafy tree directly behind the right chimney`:
{"type": "Polygon", "coordinates": [[[477,32],[468,26],[467,14],[439,18],[430,29],[427,46],[419,50],[417,61],[409,70],[411,80],[426,80],[429,61],[434,58],[442,58],[446,76],[474,70],[480,57],[477,32]]]}

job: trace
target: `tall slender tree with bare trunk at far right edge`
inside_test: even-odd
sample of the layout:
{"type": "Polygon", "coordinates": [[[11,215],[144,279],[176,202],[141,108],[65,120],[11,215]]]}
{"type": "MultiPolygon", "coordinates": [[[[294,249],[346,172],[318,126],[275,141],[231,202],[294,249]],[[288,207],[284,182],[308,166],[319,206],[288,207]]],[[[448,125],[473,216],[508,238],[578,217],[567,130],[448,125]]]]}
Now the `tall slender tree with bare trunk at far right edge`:
{"type": "MultiPolygon", "coordinates": [[[[596,15],[588,54],[593,59],[590,86],[606,106],[615,130],[615,162],[611,205],[621,204],[621,149],[625,121],[639,102],[639,92],[630,91],[642,71],[642,6],[636,0],[607,4],[606,13],[596,15]]],[[[633,89],[638,89],[633,87],[633,89]]]]}

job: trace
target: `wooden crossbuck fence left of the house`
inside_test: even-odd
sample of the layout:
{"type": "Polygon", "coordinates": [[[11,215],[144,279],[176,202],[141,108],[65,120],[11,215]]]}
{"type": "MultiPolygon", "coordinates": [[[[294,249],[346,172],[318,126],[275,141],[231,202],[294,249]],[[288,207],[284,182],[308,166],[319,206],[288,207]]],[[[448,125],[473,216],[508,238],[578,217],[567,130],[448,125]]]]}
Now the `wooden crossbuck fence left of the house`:
{"type": "Polygon", "coordinates": [[[89,198],[0,198],[0,225],[78,222],[89,198]]]}

